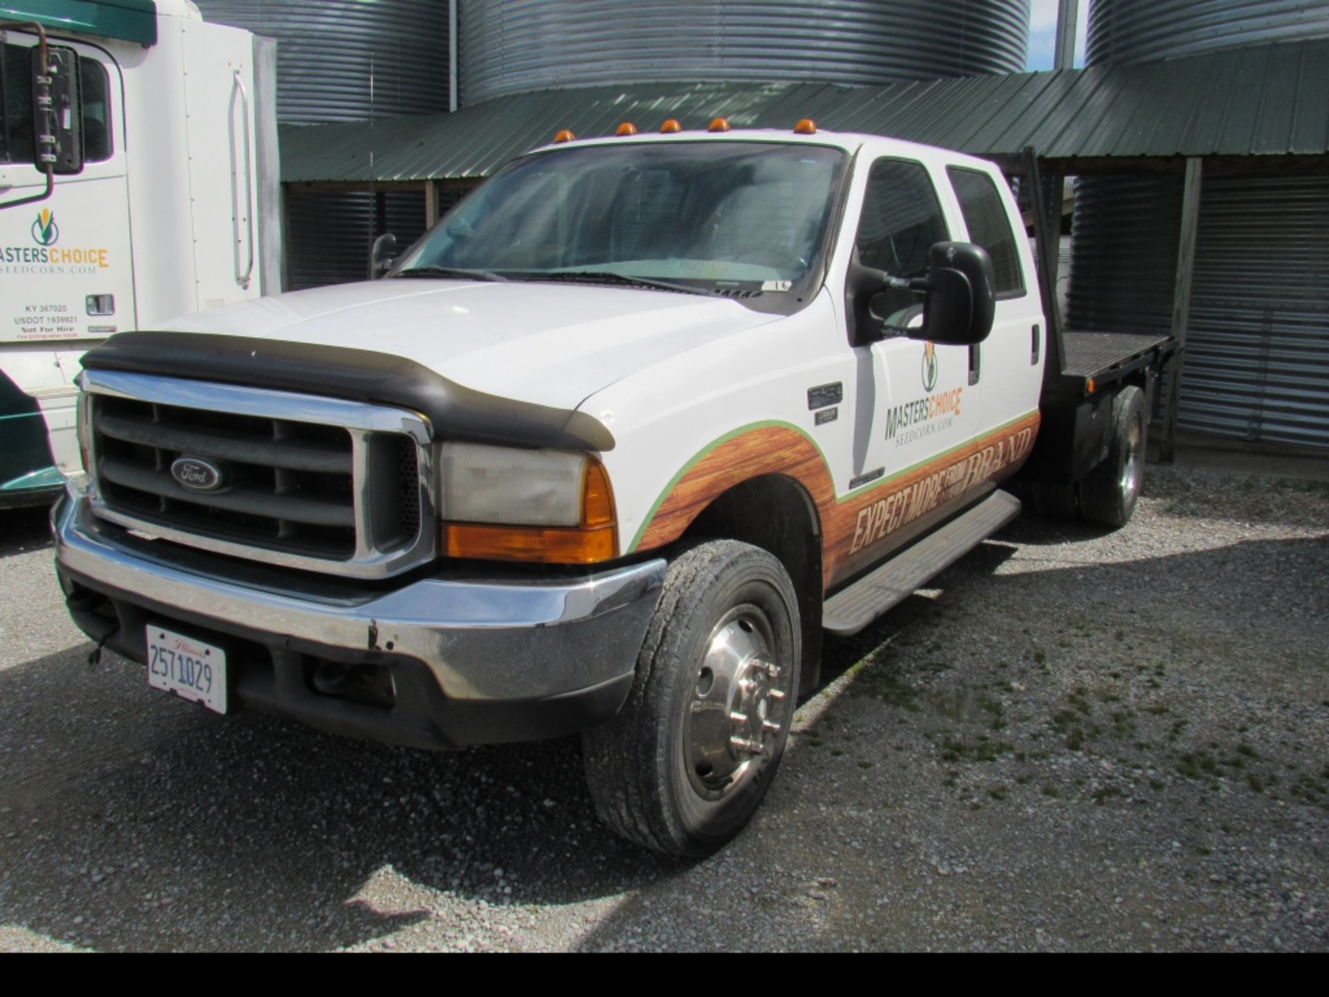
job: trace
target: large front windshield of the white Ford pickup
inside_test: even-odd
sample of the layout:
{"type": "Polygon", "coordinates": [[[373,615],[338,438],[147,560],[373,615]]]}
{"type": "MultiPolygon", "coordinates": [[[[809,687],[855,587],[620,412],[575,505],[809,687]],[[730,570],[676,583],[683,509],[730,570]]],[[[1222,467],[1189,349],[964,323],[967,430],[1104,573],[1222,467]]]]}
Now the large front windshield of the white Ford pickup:
{"type": "Polygon", "coordinates": [[[540,153],[462,201],[395,273],[784,292],[812,270],[844,162],[747,141],[540,153]]]}

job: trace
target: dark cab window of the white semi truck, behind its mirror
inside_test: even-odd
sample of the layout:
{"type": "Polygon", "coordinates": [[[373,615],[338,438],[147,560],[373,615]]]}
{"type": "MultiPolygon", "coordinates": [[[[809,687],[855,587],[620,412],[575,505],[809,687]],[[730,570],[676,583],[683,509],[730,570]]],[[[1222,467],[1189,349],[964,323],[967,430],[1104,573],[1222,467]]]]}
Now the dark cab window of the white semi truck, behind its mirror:
{"type": "MultiPolygon", "coordinates": [[[[78,58],[78,102],[84,162],[102,162],[114,152],[110,132],[110,77],[94,58],[78,58]]],[[[0,45],[0,162],[32,162],[32,48],[0,45]]]]}

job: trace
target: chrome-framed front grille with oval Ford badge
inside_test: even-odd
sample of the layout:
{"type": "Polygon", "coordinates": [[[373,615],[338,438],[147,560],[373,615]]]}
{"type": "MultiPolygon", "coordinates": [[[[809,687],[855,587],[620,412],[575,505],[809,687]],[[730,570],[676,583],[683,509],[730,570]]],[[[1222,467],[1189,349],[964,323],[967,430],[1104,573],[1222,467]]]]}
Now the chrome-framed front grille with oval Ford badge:
{"type": "MultiPolygon", "coordinates": [[[[104,518],[190,546],[385,577],[435,554],[429,428],[412,412],[86,371],[104,518]],[[203,464],[215,488],[173,473],[203,464]]],[[[187,477],[187,475],[185,476],[187,477]]]]}

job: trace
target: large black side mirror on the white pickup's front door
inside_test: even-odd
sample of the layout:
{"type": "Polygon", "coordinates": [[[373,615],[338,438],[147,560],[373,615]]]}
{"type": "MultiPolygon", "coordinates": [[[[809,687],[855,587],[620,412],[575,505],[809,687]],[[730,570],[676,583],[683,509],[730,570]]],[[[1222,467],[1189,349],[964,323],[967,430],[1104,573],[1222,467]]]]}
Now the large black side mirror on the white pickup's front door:
{"type": "Polygon", "coordinates": [[[987,339],[997,311],[991,257],[971,242],[938,242],[928,254],[928,275],[909,282],[922,291],[922,326],[910,339],[974,346],[987,339]]]}

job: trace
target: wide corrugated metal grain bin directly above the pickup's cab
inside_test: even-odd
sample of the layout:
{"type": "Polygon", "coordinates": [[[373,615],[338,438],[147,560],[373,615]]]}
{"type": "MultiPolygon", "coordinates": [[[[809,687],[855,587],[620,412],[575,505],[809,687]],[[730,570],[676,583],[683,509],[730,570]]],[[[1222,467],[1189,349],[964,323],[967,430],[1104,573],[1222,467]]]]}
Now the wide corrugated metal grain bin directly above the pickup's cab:
{"type": "Polygon", "coordinates": [[[1029,0],[465,0],[461,100],[651,80],[881,84],[1025,68],[1029,0]]]}

